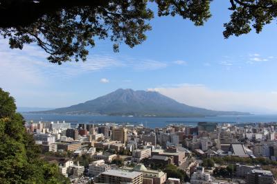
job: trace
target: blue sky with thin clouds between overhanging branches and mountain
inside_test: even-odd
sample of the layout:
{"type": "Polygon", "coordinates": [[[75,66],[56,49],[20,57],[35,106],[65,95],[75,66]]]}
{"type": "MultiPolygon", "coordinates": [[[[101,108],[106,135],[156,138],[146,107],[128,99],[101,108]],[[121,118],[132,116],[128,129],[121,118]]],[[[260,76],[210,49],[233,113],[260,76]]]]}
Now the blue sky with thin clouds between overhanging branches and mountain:
{"type": "Polygon", "coordinates": [[[276,21],[260,34],[224,39],[227,8],[229,1],[213,1],[201,27],[155,15],[143,44],[114,53],[109,40],[96,40],[86,62],[62,66],[38,46],[11,50],[0,39],[0,87],[19,107],[66,107],[123,88],[207,109],[277,113],[276,21]]]}

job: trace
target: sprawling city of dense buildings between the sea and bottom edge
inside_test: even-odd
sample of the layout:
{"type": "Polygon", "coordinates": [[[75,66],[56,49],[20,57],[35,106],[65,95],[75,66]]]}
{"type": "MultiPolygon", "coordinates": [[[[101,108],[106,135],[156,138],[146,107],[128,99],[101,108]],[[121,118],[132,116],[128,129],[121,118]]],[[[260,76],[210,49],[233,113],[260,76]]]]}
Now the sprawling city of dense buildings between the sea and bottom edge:
{"type": "Polygon", "coordinates": [[[72,183],[274,183],[277,176],[277,122],[151,129],[31,121],[26,129],[72,183]]]}

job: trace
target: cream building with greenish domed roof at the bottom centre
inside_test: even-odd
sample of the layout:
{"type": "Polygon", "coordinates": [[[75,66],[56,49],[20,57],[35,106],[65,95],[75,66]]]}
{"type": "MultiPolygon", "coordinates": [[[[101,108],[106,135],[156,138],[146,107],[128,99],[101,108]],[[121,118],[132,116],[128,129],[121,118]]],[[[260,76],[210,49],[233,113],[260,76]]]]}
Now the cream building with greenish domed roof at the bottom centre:
{"type": "Polygon", "coordinates": [[[158,170],[147,169],[143,164],[138,164],[136,167],[120,167],[128,172],[142,172],[143,184],[163,184],[166,183],[166,173],[158,170]]]}

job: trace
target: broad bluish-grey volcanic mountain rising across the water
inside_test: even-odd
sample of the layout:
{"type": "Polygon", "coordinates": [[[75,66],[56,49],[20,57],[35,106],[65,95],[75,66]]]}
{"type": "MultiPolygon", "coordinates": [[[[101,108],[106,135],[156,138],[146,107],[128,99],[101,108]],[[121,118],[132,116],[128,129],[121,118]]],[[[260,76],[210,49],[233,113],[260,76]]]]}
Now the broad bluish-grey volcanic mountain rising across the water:
{"type": "Polygon", "coordinates": [[[202,117],[220,115],[245,115],[235,111],[211,111],[181,104],[153,91],[118,89],[94,100],[75,104],[71,107],[41,111],[43,113],[102,114],[110,116],[175,116],[202,117]]]}

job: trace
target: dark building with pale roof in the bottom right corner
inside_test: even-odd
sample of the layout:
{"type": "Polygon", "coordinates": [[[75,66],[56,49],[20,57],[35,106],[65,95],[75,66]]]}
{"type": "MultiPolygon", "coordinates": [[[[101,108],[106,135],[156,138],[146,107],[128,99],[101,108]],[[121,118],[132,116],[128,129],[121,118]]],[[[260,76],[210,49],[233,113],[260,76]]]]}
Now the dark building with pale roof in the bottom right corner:
{"type": "Polygon", "coordinates": [[[253,169],[247,174],[246,181],[249,184],[272,184],[274,177],[271,171],[253,169]]]}

